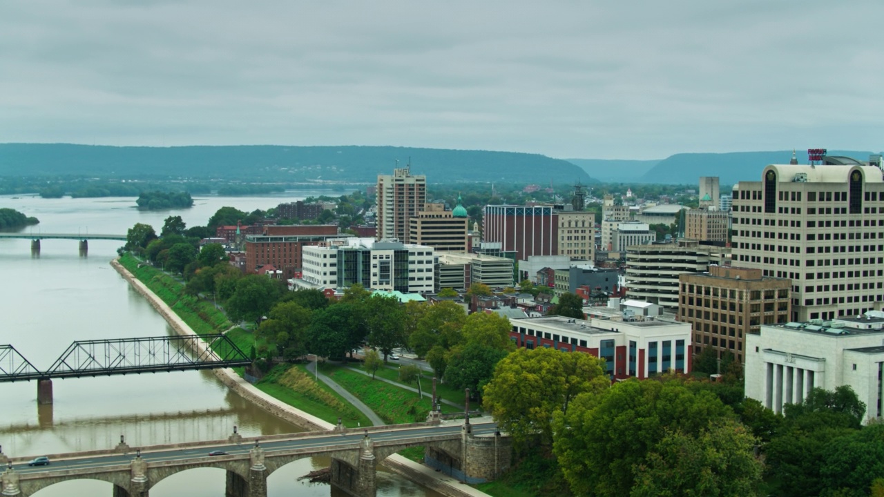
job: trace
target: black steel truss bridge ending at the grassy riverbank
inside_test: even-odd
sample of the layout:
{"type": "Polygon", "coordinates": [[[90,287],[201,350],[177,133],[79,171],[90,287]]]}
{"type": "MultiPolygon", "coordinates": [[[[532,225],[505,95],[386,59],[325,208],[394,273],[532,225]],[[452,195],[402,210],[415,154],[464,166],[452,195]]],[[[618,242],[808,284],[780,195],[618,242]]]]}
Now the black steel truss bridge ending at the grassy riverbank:
{"type": "Polygon", "coordinates": [[[0,383],[37,381],[37,401],[52,403],[52,378],[191,371],[246,366],[252,361],[221,333],[80,340],[40,371],[11,345],[0,345],[0,383]]]}

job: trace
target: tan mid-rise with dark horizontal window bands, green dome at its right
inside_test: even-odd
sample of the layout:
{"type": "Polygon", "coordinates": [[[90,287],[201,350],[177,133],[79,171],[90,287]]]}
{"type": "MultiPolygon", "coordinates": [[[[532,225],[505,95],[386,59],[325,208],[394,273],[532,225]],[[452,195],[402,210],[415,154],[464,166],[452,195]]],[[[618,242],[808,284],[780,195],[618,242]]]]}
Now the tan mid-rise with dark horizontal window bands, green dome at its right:
{"type": "Polygon", "coordinates": [[[457,207],[445,210],[444,203],[427,203],[408,219],[408,240],[438,252],[466,252],[469,215],[457,197],[457,207]]]}

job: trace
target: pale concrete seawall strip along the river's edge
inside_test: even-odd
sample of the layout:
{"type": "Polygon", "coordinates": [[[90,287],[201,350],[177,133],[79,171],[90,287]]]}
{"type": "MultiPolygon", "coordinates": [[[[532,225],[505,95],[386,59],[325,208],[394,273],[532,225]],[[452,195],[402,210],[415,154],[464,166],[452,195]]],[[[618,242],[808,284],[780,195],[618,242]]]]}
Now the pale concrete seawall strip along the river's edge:
{"type": "MultiPolygon", "coordinates": [[[[119,264],[118,260],[114,259],[110,261],[110,265],[120,274],[120,276],[129,282],[136,292],[147,299],[151,307],[153,307],[156,312],[165,319],[166,323],[175,330],[175,333],[183,336],[196,336],[194,330],[178,317],[174,310],[171,310],[171,308],[166,305],[162,299],[156,296],[150,288],[144,285],[140,279],[135,278],[135,276],[126,270],[122,264],[119,264]]],[[[200,341],[199,343],[201,344],[201,347],[207,347],[204,342],[200,341]]],[[[231,388],[242,398],[255,403],[255,405],[271,413],[273,416],[279,417],[291,424],[295,424],[310,431],[332,430],[335,428],[334,424],[327,423],[301,409],[295,409],[283,401],[279,401],[268,394],[264,394],[261,390],[255,388],[255,386],[249,384],[248,381],[240,378],[240,376],[231,369],[217,369],[211,371],[222,383],[231,388]]],[[[461,484],[461,482],[454,478],[447,477],[421,463],[415,463],[401,455],[391,455],[385,459],[383,464],[388,470],[449,497],[489,497],[487,493],[478,491],[471,486],[461,484]]]]}

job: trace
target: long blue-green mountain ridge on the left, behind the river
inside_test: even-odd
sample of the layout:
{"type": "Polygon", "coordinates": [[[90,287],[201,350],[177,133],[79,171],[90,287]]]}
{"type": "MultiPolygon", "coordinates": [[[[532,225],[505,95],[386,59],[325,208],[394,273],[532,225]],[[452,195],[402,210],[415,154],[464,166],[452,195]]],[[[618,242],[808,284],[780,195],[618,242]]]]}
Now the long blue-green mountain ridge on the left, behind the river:
{"type": "Polygon", "coordinates": [[[0,143],[0,176],[374,182],[397,161],[431,182],[598,182],[568,161],[539,154],[408,147],[234,145],[110,147],[0,143]]]}

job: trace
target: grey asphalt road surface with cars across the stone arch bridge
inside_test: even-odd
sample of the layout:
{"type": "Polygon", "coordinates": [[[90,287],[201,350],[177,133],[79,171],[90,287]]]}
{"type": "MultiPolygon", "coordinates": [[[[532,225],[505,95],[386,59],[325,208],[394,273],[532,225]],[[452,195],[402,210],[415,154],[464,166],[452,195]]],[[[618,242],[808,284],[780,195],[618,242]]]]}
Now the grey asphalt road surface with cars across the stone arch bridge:
{"type": "MultiPolygon", "coordinates": [[[[386,432],[371,432],[371,440],[375,445],[388,445],[390,442],[398,440],[411,440],[418,437],[429,437],[438,435],[454,435],[461,432],[461,424],[449,424],[443,426],[427,426],[417,428],[397,429],[394,425],[390,426],[391,430],[386,432]],[[387,443],[385,443],[387,442],[387,443]]],[[[477,435],[492,434],[497,429],[497,424],[483,423],[473,424],[473,433],[477,435]]],[[[272,440],[261,443],[265,455],[273,455],[274,452],[292,451],[298,449],[316,449],[321,452],[324,447],[338,446],[341,444],[358,444],[364,435],[359,430],[353,430],[347,434],[330,433],[328,435],[316,435],[312,437],[301,437],[292,440],[272,440]]],[[[248,457],[248,451],[253,447],[251,443],[224,444],[217,446],[194,447],[185,449],[159,449],[151,451],[150,447],[144,447],[141,451],[141,457],[148,463],[159,463],[163,461],[187,461],[193,462],[194,458],[205,458],[215,461],[223,461],[229,459],[242,459],[248,457]],[[209,456],[210,450],[223,450],[228,455],[209,456]]],[[[72,454],[71,457],[76,457],[72,454]]],[[[117,466],[132,462],[134,455],[94,455],[85,458],[70,458],[54,460],[48,466],[27,466],[27,463],[19,463],[13,465],[15,470],[22,475],[31,475],[56,470],[82,470],[82,469],[101,469],[110,466],[117,466]]]]}

